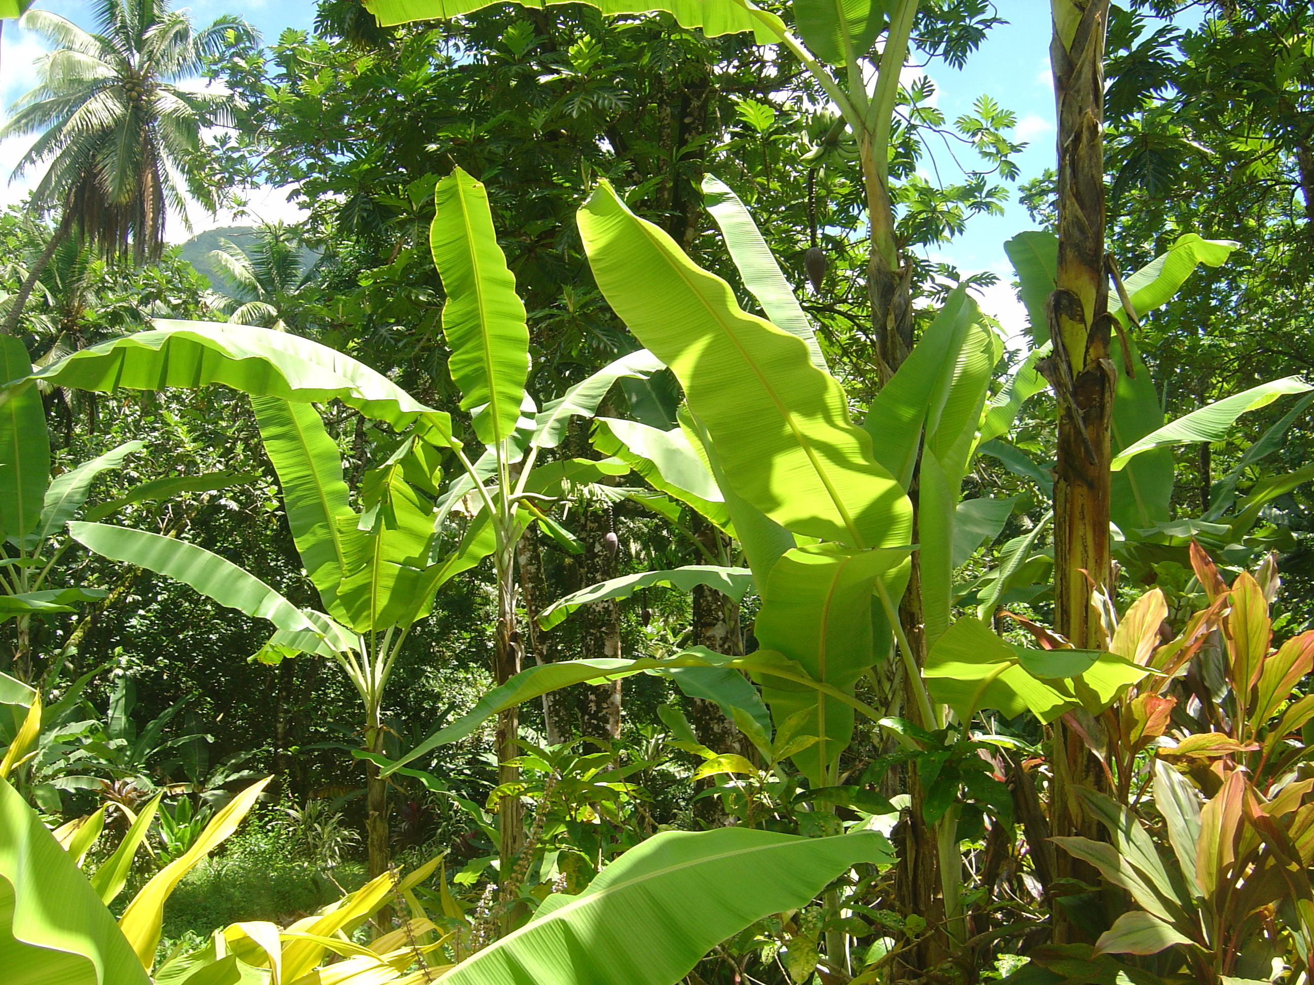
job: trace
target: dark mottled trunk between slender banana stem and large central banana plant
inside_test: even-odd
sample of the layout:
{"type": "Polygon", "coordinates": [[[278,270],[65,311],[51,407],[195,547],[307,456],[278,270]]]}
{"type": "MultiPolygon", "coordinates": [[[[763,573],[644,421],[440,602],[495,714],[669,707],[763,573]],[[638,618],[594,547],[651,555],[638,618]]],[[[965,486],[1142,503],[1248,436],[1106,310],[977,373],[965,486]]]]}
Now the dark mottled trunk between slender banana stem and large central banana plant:
{"type": "MultiPolygon", "coordinates": [[[[587,500],[582,504],[581,540],[583,541],[583,583],[598,584],[616,577],[615,519],[611,504],[587,500]]],[[[620,603],[616,599],[591,602],[583,607],[583,659],[620,657],[620,603]]],[[[579,704],[585,737],[615,739],[620,737],[620,682],[586,687],[579,704]]]]}

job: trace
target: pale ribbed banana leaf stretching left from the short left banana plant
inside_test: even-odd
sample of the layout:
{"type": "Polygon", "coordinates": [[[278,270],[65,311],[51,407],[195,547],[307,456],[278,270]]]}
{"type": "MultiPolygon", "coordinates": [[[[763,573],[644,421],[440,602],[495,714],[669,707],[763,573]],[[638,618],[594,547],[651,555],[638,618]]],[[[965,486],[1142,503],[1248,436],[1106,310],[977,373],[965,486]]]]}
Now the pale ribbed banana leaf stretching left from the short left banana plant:
{"type": "Polygon", "coordinates": [[[102,557],[168,575],[221,605],[256,619],[267,619],[296,637],[306,651],[314,653],[321,646],[319,632],[301,609],[254,574],[205,548],[147,531],[102,523],[71,523],[68,533],[102,557]]]}

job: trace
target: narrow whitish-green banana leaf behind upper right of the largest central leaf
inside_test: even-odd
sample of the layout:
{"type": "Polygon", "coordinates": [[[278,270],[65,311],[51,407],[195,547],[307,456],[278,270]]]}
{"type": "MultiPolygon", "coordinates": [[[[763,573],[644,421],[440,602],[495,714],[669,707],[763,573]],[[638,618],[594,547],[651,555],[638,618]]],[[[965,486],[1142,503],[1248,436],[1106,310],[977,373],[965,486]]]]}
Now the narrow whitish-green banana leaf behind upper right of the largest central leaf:
{"type": "MultiPolygon", "coordinates": [[[[866,3],[867,0],[859,0],[866,3]]],[[[812,322],[803,314],[798,298],[794,297],[794,288],[784,280],[779,264],[771,255],[771,248],[758,232],[757,223],[731,190],[729,185],[712,175],[703,177],[703,205],[716,225],[721,230],[725,248],[731,251],[731,260],[744,278],[744,286],[757,298],[757,303],[766,313],[766,320],[777,328],[783,328],[790,335],[798,335],[808,347],[808,359],[812,365],[823,373],[829,373],[830,368],[821,355],[821,345],[817,343],[812,322]]]]}

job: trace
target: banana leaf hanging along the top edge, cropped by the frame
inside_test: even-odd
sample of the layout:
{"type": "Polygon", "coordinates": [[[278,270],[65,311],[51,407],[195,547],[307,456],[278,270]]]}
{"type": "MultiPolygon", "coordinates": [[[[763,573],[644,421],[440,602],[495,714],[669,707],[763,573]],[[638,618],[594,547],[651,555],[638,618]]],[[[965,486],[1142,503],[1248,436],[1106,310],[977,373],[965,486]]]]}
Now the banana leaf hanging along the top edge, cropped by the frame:
{"type": "MultiPolygon", "coordinates": [[[[544,8],[568,0],[528,0],[522,7],[544,8]]],[[[406,21],[428,21],[460,17],[463,13],[491,7],[495,0],[367,0],[365,9],[382,25],[406,21]]],[[[784,25],[774,14],[750,13],[748,4],[737,0],[590,0],[604,14],[670,13],[681,28],[702,28],[707,37],[753,32],[759,45],[779,41],[784,25]]]]}

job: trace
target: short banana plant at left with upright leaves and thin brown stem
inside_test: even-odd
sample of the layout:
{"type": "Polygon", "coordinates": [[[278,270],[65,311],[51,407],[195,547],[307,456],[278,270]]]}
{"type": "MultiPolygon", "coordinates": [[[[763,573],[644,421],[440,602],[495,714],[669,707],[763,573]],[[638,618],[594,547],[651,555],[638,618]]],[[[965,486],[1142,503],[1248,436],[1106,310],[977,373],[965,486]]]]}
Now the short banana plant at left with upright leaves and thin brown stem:
{"type": "MultiPolygon", "coordinates": [[[[449,552],[440,552],[435,507],[407,481],[415,475],[428,485],[440,475],[436,449],[417,437],[365,473],[364,512],[356,514],[336,444],[314,407],[276,397],[255,397],[252,403],[293,540],[326,612],[298,609],[255,575],[177,538],[99,523],[72,523],[70,533],[104,557],[175,578],[222,605],[269,620],[276,632],[258,654],[265,663],[300,653],[332,659],[364,704],[364,749],[380,753],[385,688],[410,628],[428,615],[445,582],[487,554],[487,525],[472,524],[449,552]]],[[[377,876],[388,867],[388,788],[373,763],[367,762],[367,842],[377,876]]]]}

